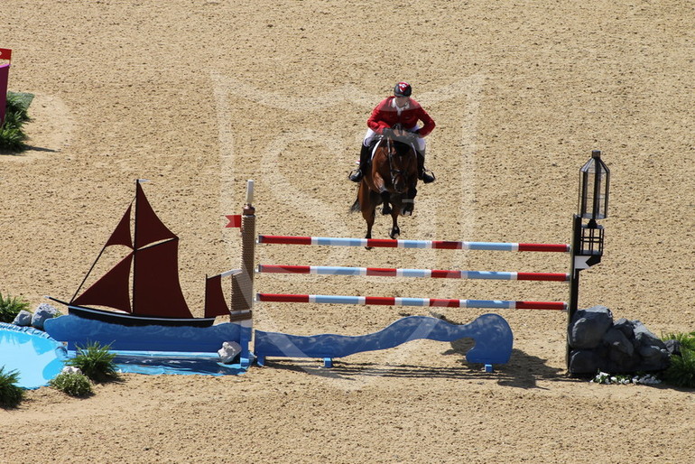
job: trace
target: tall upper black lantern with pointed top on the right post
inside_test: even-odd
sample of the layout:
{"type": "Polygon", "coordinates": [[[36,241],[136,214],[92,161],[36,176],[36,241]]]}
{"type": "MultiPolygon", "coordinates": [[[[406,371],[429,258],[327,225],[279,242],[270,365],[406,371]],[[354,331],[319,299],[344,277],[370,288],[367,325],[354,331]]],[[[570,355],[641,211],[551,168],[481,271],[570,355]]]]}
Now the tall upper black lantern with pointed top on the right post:
{"type": "Polygon", "coordinates": [[[579,170],[579,216],[605,219],[608,216],[610,170],[601,160],[601,152],[591,152],[591,159],[579,170]]]}

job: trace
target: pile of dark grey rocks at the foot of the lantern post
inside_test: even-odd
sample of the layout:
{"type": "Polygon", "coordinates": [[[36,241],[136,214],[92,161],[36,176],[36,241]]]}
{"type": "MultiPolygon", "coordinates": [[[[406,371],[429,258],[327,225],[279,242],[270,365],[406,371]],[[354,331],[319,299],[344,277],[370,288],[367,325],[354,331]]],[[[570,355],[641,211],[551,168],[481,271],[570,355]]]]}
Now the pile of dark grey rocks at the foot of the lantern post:
{"type": "Polygon", "coordinates": [[[568,328],[570,374],[593,376],[662,371],[678,343],[664,343],[639,320],[619,319],[605,306],[577,311],[568,328]]]}

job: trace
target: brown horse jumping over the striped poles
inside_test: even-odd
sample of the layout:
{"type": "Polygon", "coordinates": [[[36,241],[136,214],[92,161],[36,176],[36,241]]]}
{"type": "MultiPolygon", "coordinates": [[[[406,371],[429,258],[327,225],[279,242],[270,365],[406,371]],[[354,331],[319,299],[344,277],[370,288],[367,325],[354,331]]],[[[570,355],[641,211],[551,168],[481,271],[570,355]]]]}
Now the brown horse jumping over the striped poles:
{"type": "Polygon", "coordinates": [[[359,184],[357,200],[350,208],[351,212],[362,212],[366,221],[365,238],[372,238],[378,205],[382,205],[382,214],[390,214],[393,219],[391,238],[401,234],[398,216],[412,215],[417,195],[417,154],[412,146],[412,135],[403,131],[393,134],[382,136],[377,142],[371,165],[359,184]]]}

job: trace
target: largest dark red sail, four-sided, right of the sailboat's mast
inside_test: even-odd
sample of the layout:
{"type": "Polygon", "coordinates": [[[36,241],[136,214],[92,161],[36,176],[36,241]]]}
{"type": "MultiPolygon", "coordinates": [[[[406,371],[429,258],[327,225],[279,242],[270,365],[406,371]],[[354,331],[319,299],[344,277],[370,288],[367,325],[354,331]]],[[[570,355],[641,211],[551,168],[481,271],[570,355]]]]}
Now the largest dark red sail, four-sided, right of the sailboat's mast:
{"type": "Polygon", "coordinates": [[[179,238],[174,237],[135,252],[133,314],[192,317],[179,283],[178,246],[179,238]]]}

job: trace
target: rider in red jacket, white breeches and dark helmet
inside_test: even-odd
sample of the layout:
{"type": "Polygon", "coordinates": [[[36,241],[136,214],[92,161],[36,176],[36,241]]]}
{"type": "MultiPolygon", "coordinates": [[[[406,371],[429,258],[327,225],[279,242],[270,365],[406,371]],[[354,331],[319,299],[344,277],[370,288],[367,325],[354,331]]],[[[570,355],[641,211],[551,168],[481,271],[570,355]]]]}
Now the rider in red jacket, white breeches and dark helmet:
{"type": "MultiPolygon", "coordinates": [[[[350,181],[362,180],[366,172],[372,151],[372,143],[377,135],[394,135],[392,127],[401,125],[403,132],[414,135],[415,151],[418,159],[418,179],[424,183],[434,181],[434,175],[425,171],[425,139],[434,129],[434,121],[427,112],[411,98],[412,88],[407,82],[399,82],[395,85],[394,96],[387,97],[372,111],[372,116],[366,121],[369,127],[366,130],[365,140],[362,142],[362,151],[359,153],[359,168],[350,174],[350,181]],[[418,126],[422,121],[422,126],[418,126]]],[[[396,134],[400,135],[400,134],[396,134]]]]}

